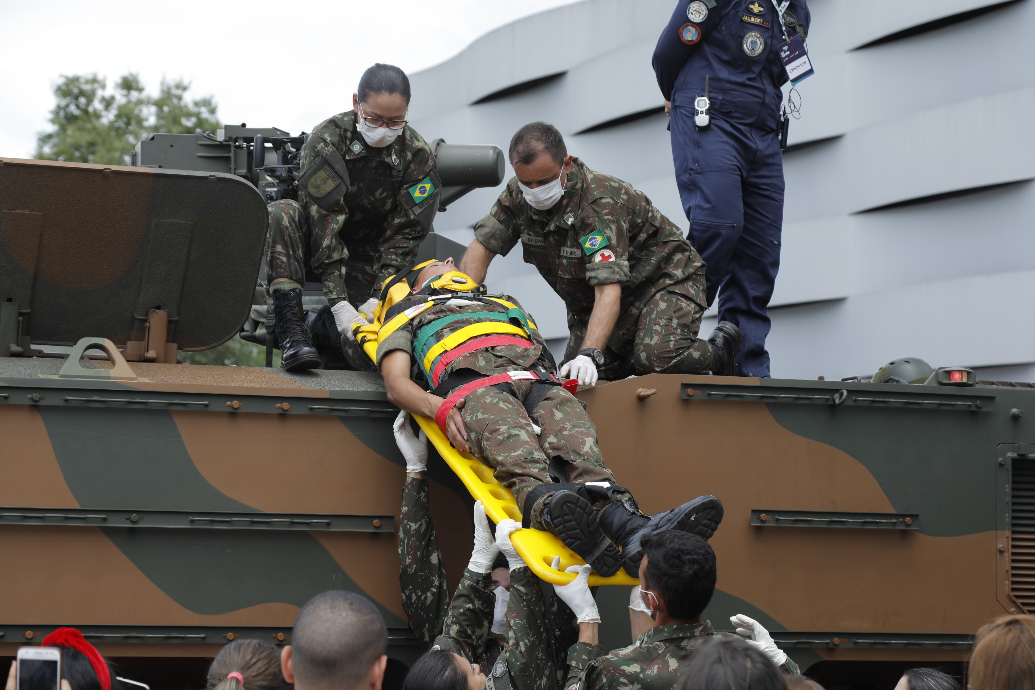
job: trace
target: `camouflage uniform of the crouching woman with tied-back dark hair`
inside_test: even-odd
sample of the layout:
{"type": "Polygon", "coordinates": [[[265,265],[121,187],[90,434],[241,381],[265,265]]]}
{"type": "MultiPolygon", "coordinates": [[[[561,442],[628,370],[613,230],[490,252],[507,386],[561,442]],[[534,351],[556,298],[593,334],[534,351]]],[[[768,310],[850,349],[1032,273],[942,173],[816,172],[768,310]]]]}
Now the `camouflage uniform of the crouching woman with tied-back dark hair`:
{"type": "Polygon", "coordinates": [[[417,252],[438,210],[431,147],[407,125],[375,153],[354,111],[313,130],[301,153],[298,203],[269,206],[266,275],[323,282],[330,303],[358,306],[417,252]]]}

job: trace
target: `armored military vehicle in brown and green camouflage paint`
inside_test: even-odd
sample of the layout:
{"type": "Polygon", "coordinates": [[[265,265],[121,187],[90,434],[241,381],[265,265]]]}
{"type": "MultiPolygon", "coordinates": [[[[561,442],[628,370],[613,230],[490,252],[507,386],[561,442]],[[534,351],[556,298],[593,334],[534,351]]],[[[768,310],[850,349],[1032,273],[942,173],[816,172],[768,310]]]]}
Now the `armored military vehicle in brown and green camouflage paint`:
{"type": "MultiPolygon", "coordinates": [[[[420,653],[379,374],[176,363],[257,302],[245,177],[0,159],[0,656],[69,625],[130,678],[196,687],[228,640],[290,643],[328,589],[383,613],[387,688],[420,653]]],[[[419,259],[462,249],[433,234],[419,259]]],[[[722,499],[706,617],[758,619],[827,684],[958,667],[982,624],[1035,612],[1029,384],[652,374],[580,396],[645,511],[722,499]]],[[[455,583],[471,500],[430,474],[455,583]]],[[[597,596],[602,643],[628,644],[628,588],[597,596]]]]}

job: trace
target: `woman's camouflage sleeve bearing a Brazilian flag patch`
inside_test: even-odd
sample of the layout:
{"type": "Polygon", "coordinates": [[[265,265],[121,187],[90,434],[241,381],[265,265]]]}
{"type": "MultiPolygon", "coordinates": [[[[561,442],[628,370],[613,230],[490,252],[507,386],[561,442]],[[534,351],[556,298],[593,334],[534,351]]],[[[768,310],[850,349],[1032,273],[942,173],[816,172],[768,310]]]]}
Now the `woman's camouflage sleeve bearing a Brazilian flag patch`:
{"type": "Polygon", "coordinates": [[[405,145],[412,157],[403,174],[395,209],[385,221],[385,232],[378,243],[375,294],[385,278],[398,273],[406,262],[417,256],[417,246],[427,237],[439,209],[442,182],[435,171],[431,147],[409,126],[405,145]]]}

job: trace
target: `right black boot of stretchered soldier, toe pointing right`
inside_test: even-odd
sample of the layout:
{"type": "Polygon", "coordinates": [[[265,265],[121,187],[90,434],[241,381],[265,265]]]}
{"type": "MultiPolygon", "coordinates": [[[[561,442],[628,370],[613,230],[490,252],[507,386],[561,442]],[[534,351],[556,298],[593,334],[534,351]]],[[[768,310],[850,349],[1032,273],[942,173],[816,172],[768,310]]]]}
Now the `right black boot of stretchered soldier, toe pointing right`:
{"type": "Polygon", "coordinates": [[[632,577],[640,576],[644,556],[640,540],[647,535],[676,530],[711,539],[721,521],[722,502],[713,496],[699,497],[657,515],[643,514],[633,501],[615,501],[600,511],[600,529],[622,547],[625,572],[632,577]]]}

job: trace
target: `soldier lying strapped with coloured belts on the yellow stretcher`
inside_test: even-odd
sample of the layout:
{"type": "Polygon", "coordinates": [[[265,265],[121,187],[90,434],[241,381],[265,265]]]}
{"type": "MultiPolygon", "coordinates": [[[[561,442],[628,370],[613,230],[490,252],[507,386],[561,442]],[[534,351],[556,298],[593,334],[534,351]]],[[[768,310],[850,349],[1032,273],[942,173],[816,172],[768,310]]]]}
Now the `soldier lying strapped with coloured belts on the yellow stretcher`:
{"type": "Polygon", "coordinates": [[[524,527],[556,535],[604,577],[623,567],[638,575],[647,534],[714,534],[722,519],[715,497],[648,516],[615,482],[596,427],[560,385],[542,337],[513,298],[484,295],[450,259],[424,267],[410,299],[389,310],[386,326],[398,325],[379,336],[388,399],[434,418],[456,448],[493,468],[522,508],[524,527]]]}

